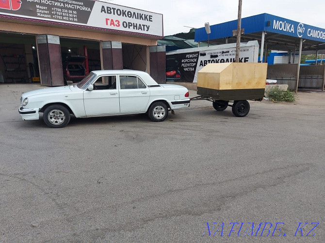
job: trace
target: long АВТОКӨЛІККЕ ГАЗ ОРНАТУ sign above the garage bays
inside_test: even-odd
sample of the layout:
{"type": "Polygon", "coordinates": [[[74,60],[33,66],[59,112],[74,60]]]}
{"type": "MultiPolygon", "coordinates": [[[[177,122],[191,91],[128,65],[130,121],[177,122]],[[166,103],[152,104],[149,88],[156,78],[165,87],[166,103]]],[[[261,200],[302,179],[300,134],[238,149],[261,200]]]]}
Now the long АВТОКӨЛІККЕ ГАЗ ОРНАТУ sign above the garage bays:
{"type": "Polygon", "coordinates": [[[94,0],[0,0],[0,15],[162,37],[162,15],[94,0]]]}

